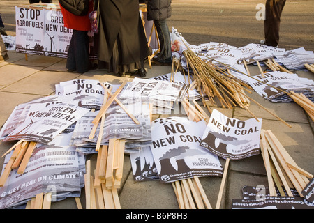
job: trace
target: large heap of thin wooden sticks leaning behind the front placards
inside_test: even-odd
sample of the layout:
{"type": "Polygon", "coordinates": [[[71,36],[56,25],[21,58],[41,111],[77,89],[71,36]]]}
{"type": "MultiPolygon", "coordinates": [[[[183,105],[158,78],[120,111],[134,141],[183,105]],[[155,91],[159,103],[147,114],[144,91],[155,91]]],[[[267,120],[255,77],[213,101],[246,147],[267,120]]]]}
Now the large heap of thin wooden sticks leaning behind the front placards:
{"type": "MultiPolygon", "coordinates": [[[[253,89],[251,86],[241,81],[237,77],[234,77],[234,75],[230,73],[230,70],[240,72],[239,70],[236,70],[223,63],[221,63],[221,65],[225,69],[220,68],[220,66],[216,66],[214,63],[201,59],[200,56],[197,56],[197,54],[191,51],[188,47],[183,52],[183,54],[186,57],[188,77],[190,78],[190,69],[192,69],[193,79],[194,82],[196,82],[197,91],[200,94],[207,95],[211,105],[216,105],[215,98],[218,98],[221,107],[232,109],[233,107],[239,106],[246,109],[246,111],[251,114],[251,116],[259,121],[257,116],[255,116],[255,114],[253,114],[253,112],[251,112],[248,108],[251,105],[251,102],[255,102],[255,104],[257,104],[259,107],[266,110],[269,112],[269,114],[273,115],[279,121],[283,122],[285,125],[291,128],[291,125],[283,121],[282,118],[278,117],[276,114],[269,111],[269,109],[262,106],[259,102],[246,94],[252,93],[253,89]]],[[[240,73],[244,74],[243,72],[240,73]]],[[[209,109],[207,103],[204,102],[204,98],[202,98],[202,100],[204,107],[209,109]]],[[[209,112],[211,112],[211,109],[209,109],[209,112]]]]}

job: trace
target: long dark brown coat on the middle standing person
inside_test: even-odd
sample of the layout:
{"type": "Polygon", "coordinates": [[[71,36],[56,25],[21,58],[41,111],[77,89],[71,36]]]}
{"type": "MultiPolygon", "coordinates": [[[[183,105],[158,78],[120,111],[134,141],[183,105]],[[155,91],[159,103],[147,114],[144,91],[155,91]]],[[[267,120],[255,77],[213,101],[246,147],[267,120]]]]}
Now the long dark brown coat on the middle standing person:
{"type": "Polygon", "coordinates": [[[138,1],[101,0],[99,3],[98,59],[109,63],[117,40],[121,65],[144,60],[147,39],[138,1]]]}

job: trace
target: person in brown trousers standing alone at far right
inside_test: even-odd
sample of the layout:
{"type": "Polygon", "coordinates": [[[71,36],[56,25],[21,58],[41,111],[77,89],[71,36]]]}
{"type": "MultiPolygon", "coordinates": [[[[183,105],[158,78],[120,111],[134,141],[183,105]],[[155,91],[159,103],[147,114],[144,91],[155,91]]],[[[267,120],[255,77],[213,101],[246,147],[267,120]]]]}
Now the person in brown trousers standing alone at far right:
{"type": "Polygon", "coordinates": [[[285,0],[267,0],[265,6],[264,35],[262,44],[277,47],[279,43],[279,29],[281,25],[281,13],[285,6],[285,0]]]}

